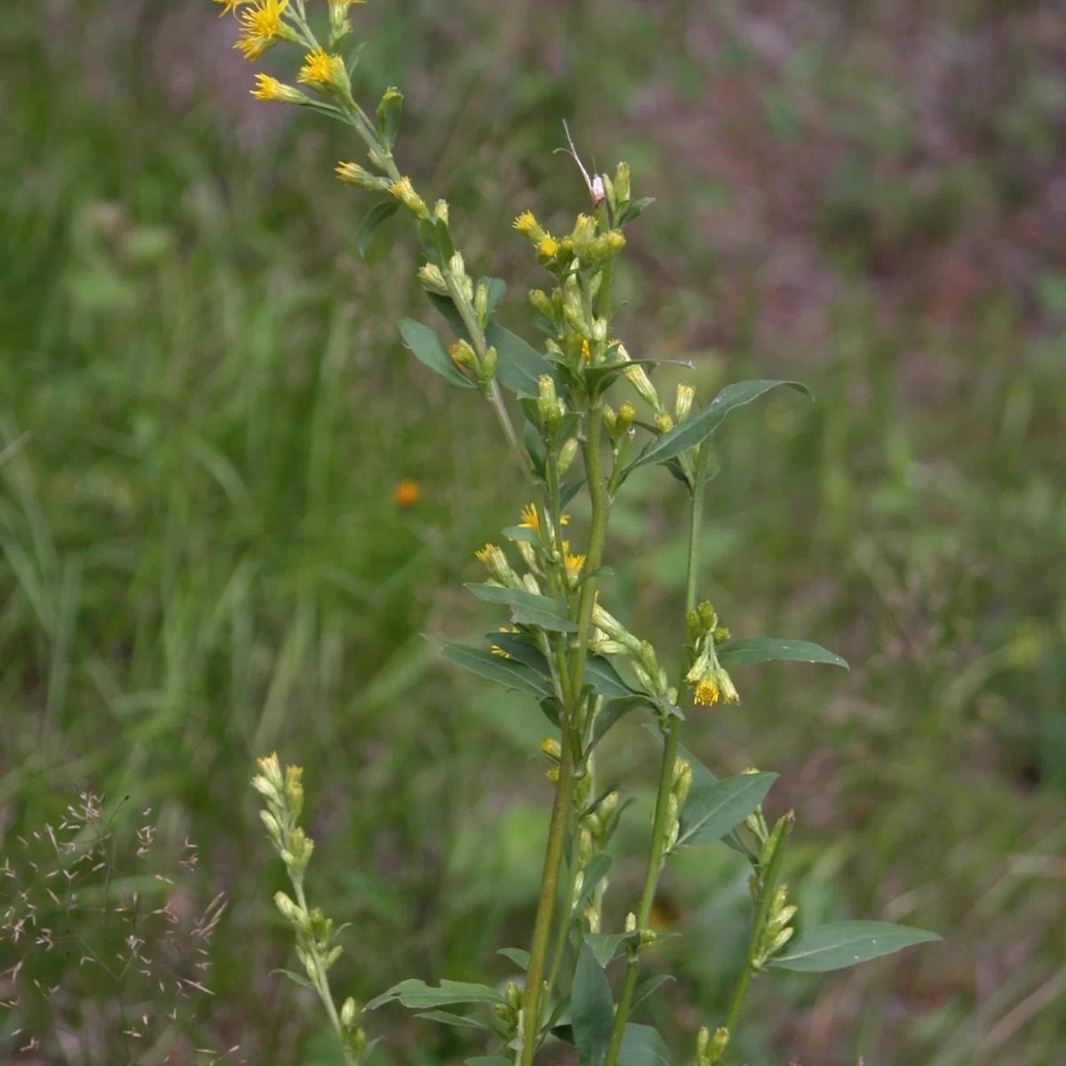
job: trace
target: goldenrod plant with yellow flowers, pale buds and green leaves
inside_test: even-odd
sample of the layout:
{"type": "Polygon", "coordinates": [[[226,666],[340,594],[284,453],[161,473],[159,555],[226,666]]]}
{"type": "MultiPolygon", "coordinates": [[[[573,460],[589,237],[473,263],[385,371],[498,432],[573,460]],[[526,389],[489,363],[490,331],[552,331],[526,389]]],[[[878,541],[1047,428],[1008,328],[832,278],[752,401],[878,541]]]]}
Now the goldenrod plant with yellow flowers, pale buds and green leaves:
{"type": "MultiPolygon", "coordinates": [[[[404,319],[400,334],[426,368],[456,388],[479,390],[499,421],[530,502],[519,520],[487,544],[478,559],[487,571],[467,585],[481,600],[510,612],[510,625],[487,647],[439,640],[456,666],[539,704],[553,734],[542,744],[554,790],[536,918],[528,950],[504,949],[526,972],[524,987],[503,991],[483,984],[443,980],[432,986],[403,981],[367,1004],[392,1001],[424,1017],[489,1034],[489,1057],[479,1066],[530,1066],[553,1040],[571,1043],[581,1066],[645,1066],[668,1062],[662,1037],[629,1021],[633,1008],[662,984],[662,975],[639,983],[641,960],[656,942],[651,914],[664,865],[677,851],[722,842],[750,863],[753,915],[748,948],[728,1014],[714,1031],[700,1031],[699,1066],[728,1054],[753,979],[771,969],[820,972],[851,966],[922,941],[932,933],[886,922],[842,922],[794,936],[796,906],[780,874],[794,815],[770,825],[762,801],[776,774],[752,770],[718,780],[680,745],[687,714],[734,705],[740,693],[728,667],[772,660],[846,666],[830,651],[805,641],[731,636],[698,588],[700,534],[713,438],[727,415],[772,389],[804,395],[788,381],[748,381],[727,386],[700,403],[691,385],[678,387],[673,404],[660,395],[650,373],[658,360],[631,356],[614,318],[615,262],[625,252],[626,228],[651,200],[634,198],[626,163],[613,174],[591,174],[572,143],[587,199],[569,232],[549,232],[531,211],[514,229],[529,242],[546,285],[529,294],[534,346],[502,328],[495,316],[506,286],[474,279],[456,246],[448,204],[431,209],[395,159],[403,95],[387,88],[373,117],[357,102],[353,78],[358,48],[345,48],[353,0],[327,4],[305,0],[215,0],[240,27],[237,48],[255,61],[275,45],[292,46],[303,60],[295,84],[258,74],[260,100],[306,107],[348,124],[366,150],[362,162],[341,161],[345,184],[377,193],[367,215],[360,249],[374,229],[397,211],[415,225],[425,262],[419,278],[450,339],[438,328],[404,319]],[[609,395],[627,390],[612,403],[609,395]],[[516,426],[514,417],[520,416],[516,426]],[[580,467],[575,470],[580,453],[580,467]],[[604,546],[612,506],[636,469],[664,467],[691,501],[685,615],[679,619],[682,666],[669,677],[656,648],[618,620],[601,602],[608,575],[604,546]],[[580,472],[578,472],[580,471],[580,472]],[[591,512],[585,543],[568,534],[567,507],[585,494],[591,512]],[[597,790],[596,747],[625,715],[646,714],[661,742],[643,889],[620,930],[602,924],[611,857],[608,844],[626,804],[616,789],[597,790]],[[624,962],[617,980],[608,971],[624,962]],[[477,1004],[485,1016],[446,1007],[477,1004]]],[[[306,979],[321,997],[329,1021],[354,1063],[366,1053],[356,1008],[338,1010],[327,971],[340,953],[321,911],[308,909],[304,876],[312,843],[296,825],[303,791],[297,768],[284,774],[276,757],[260,763],[256,788],[266,800],[263,820],[292,881],[295,898],[277,905],[292,924],[306,979]]]]}

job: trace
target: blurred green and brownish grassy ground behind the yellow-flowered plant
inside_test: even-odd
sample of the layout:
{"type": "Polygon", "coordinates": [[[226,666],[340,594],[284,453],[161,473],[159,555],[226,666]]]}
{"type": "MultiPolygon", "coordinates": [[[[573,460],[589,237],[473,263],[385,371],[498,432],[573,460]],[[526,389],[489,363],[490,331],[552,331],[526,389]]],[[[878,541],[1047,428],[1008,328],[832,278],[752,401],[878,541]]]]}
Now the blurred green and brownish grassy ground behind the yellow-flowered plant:
{"type": "MultiPolygon", "coordinates": [[[[269,976],[288,949],[252,761],[307,768],[321,902],[354,922],[346,990],[507,976],[542,723],[418,634],[485,625],[455,589],[520,486],[477,401],[399,349],[397,319],[430,320],[415,249],[397,226],[373,269],[354,255],[368,205],[330,176],[342,131],[246,99],[206,6],[34,6],[0,29],[0,827],[7,852],[76,781],[156,808],[200,846],[195,891],[231,901],[208,1030],[248,1061],[325,1062],[313,1004],[269,976]]],[[[581,206],[552,155],[566,117],[658,198],[617,282],[630,349],[693,358],[701,392],[765,374],[818,398],[723,435],[705,583],[734,633],[817,640],[853,671],[738,671],[740,710],[689,743],[781,772],[804,921],[946,943],[758,982],[740,1053],[1043,1066],[1066,1043],[1064,17],[862,10],[354,14],[366,92],[404,86],[404,165],[452,201],[474,271],[508,279],[508,320],[537,284],[511,217],[581,206]]],[[[615,515],[610,602],[666,642],[683,531],[653,473],[615,515]]],[[[607,778],[649,778],[639,727],[607,755],[607,778]]],[[[746,886],[711,850],[664,887],[685,938],[649,1014],[681,1055],[721,1017],[746,886]]],[[[473,1051],[373,1021],[393,1061],[473,1051]]]]}

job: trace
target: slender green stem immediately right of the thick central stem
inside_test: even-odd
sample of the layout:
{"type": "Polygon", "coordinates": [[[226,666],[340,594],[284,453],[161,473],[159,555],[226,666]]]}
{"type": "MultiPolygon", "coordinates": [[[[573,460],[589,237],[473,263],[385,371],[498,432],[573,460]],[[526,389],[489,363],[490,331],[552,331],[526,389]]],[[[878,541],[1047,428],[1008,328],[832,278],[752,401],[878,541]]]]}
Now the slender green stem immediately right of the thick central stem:
{"type": "MultiPolygon", "coordinates": [[[[699,585],[699,543],[704,532],[704,497],[707,484],[707,463],[710,448],[706,445],[699,449],[696,459],[696,485],[692,494],[692,518],[689,526],[689,574],[684,586],[685,615],[696,609],[696,597],[699,585]]],[[[681,657],[681,676],[678,678],[678,692],[684,683],[685,662],[681,657]]],[[[656,796],[656,817],[651,827],[651,852],[648,855],[648,869],[644,877],[644,891],[641,893],[641,908],[636,916],[636,927],[648,927],[651,917],[651,904],[656,897],[656,886],[663,865],[663,851],[666,844],[666,811],[669,805],[669,790],[674,779],[674,762],[677,759],[677,748],[680,741],[681,720],[671,715],[666,726],[666,741],[663,745],[663,761],[659,769],[659,792],[656,796]]],[[[621,989],[621,998],[614,1015],[614,1029],[611,1031],[611,1044],[608,1048],[604,1066],[615,1066],[618,1052],[621,1050],[621,1037],[629,1017],[629,1008],[633,1001],[633,990],[636,988],[636,978],[640,971],[640,960],[635,950],[629,955],[626,967],[626,983],[621,989]]]]}

